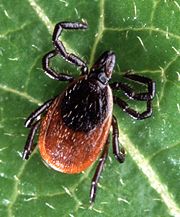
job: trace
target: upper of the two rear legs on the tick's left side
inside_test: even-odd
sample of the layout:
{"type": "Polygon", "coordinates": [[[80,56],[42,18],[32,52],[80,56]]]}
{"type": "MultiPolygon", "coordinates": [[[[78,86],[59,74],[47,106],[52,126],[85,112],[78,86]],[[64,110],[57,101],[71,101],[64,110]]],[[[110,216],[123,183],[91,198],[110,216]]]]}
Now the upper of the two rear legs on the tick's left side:
{"type": "Polygon", "coordinates": [[[40,119],[40,115],[45,112],[49,106],[52,104],[54,99],[50,99],[46,101],[43,105],[41,105],[39,108],[37,108],[35,111],[33,111],[30,116],[26,119],[24,125],[25,127],[29,128],[32,127],[34,121],[37,121],[40,119]]]}

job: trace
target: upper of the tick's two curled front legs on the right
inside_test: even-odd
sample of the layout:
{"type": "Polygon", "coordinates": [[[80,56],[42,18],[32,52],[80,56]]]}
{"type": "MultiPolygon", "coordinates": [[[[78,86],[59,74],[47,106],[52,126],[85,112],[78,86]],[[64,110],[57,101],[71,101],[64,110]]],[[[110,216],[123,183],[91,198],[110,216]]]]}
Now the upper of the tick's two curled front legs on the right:
{"type": "Polygon", "coordinates": [[[110,84],[111,88],[113,90],[123,90],[125,92],[125,95],[129,97],[130,99],[134,100],[143,100],[147,101],[150,99],[153,99],[155,95],[155,82],[152,81],[149,78],[139,76],[139,75],[134,75],[134,74],[126,74],[124,77],[128,78],[129,80],[137,81],[142,84],[146,84],[148,86],[148,92],[143,92],[143,93],[135,93],[131,87],[128,86],[128,84],[124,84],[122,82],[114,82],[110,84]]]}

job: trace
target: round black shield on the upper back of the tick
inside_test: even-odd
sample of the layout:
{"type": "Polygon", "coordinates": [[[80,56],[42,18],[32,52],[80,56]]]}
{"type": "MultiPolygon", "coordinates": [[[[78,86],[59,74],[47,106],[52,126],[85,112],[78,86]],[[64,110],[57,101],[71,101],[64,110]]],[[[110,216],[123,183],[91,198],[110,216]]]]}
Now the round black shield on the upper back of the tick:
{"type": "Polygon", "coordinates": [[[65,91],[60,106],[66,126],[89,132],[107,116],[107,86],[93,79],[79,80],[65,91]]]}

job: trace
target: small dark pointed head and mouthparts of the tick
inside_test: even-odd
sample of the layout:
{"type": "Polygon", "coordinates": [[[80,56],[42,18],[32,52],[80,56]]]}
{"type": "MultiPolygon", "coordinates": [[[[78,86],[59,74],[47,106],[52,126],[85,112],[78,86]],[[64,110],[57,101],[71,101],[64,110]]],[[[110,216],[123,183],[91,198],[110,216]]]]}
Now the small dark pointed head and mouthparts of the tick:
{"type": "Polygon", "coordinates": [[[103,84],[107,84],[112,76],[115,65],[115,54],[112,51],[104,52],[92,66],[89,78],[94,78],[103,84]]]}

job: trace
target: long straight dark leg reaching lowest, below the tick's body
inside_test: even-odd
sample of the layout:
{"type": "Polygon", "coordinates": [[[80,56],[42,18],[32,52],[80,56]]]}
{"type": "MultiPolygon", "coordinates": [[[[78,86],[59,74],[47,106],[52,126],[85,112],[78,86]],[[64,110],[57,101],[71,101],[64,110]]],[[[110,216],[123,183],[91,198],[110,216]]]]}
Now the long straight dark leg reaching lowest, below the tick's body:
{"type": "Polygon", "coordinates": [[[91,181],[91,189],[90,189],[90,203],[91,205],[95,201],[96,198],[96,190],[97,190],[97,184],[101,175],[101,172],[103,170],[107,155],[108,155],[108,148],[109,148],[109,137],[106,141],[106,144],[104,146],[103,152],[101,154],[101,157],[99,158],[99,163],[96,167],[96,172],[92,178],[91,181]]]}

